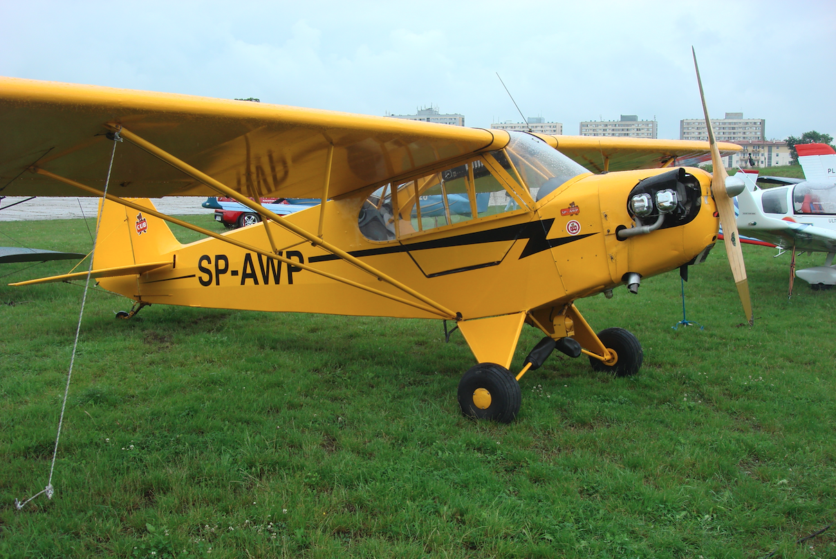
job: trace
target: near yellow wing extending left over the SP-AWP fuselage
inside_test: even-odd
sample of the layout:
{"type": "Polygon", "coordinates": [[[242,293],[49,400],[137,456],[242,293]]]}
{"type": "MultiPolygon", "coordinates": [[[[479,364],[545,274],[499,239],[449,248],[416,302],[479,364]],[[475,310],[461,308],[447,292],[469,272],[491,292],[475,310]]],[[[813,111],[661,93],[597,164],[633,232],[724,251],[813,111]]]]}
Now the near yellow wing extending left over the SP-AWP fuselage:
{"type": "MultiPolygon", "coordinates": [[[[26,172],[32,165],[100,189],[113,147],[105,135],[108,123],[253,197],[319,198],[331,145],[334,197],[502,147],[508,138],[504,130],[0,78],[0,193],[84,196],[26,172]]],[[[216,194],[127,142],[116,149],[110,184],[118,185],[119,196],[216,194]]]]}

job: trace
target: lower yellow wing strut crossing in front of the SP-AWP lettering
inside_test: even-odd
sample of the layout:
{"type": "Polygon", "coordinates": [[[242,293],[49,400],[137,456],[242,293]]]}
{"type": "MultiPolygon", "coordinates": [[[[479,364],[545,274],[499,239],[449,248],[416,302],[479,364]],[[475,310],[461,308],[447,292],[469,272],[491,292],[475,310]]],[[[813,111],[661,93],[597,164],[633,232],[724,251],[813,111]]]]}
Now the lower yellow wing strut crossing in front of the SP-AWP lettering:
{"type": "MultiPolygon", "coordinates": [[[[34,173],[38,173],[38,175],[48,176],[50,179],[59,180],[60,182],[63,182],[65,185],[74,186],[76,188],[79,188],[82,191],[90,192],[91,194],[94,194],[96,196],[102,196],[104,194],[102,191],[96,190],[96,189],[94,189],[90,186],[87,186],[87,185],[83,185],[80,182],[76,182],[75,180],[68,179],[64,176],[55,175],[54,173],[50,173],[48,170],[39,169],[38,167],[30,168],[30,170],[32,170],[34,173]]],[[[245,251],[256,252],[257,254],[261,254],[264,257],[273,258],[274,260],[278,260],[278,262],[284,262],[286,264],[290,264],[290,265],[295,266],[295,267],[300,267],[303,270],[307,270],[308,272],[314,272],[315,274],[318,274],[319,276],[327,277],[331,280],[334,280],[334,282],[345,283],[346,285],[349,285],[351,287],[357,287],[358,289],[362,289],[363,291],[374,293],[375,295],[380,295],[380,297],[386,297],[387,299],[391,299],[392,301],[402,302],[405,305],[409,305],[410,307],[415,307],[415,308],[421,309],[422,311],[425,311],[426,313],[435,314],[436,316],[439,316],[441,318],[451,318],[451,317],[447,316],[446,314],[443,314],[443,313],[439,312],[439,310],[437,310],[435,307],[429,307],[429,306],[421,304],[420,302],[409,301],[409,300],[404,299],[402,297],[397,297],[396,295],[392,295],[392,294],[387,293],[387,292],[382,292],[379,289],[375,289],[374,287],[368,287],[368,286],[363,285],[362,283],[354,282],[352,280],[349,280],[348,278],[339,277],[339,276],[336,276],[332,273],[324,272],[322,270],[318,270],[314,267],[308,266],[308,264],[303,264],[302,262],[297,262],[295,260],[291,260],[291,259],[288,259],[288,258],[285,258],[285,257],[280,257],[280,256],[278,256],[278,254],[275,254],[273,252],[268,252],[268,251],[265,251],[261,248],[258,248],[257,246],[249,245],[246,242],[237,241],[237,240],[232,239],[228,236],[220,235],[220,234],[216,233],[215,231],[209,231],[208,229],[204,229],[203,227],[192,225],[191,223],[189,223],[187,221],[181,221],[181,220],[177,219],[176,217],[166,216],[166,214],[160,213],[159,211],[151,210],[150,208],[145,207],[145,206],[140,206],[139,204],[135,204],[134,202],[131,202],[129,200],[125,200],[124,198],[120,198],[119,196],[113,196],[112,194],[106,194],[106,195],[104,195],[104,198],[107,198],[110,201],[116,202],[117,204],[121,204],[122,206],[128,206],[129,208],[133,208],[135,210],[142,211],[144,213],[150,214],[151,216],[159,217],[160,219],[169,221],[171,223],[174,223],[175,225],[186,227],[186,229],[191,229],[191,231],[196,231],[196,232],[200,233],[201,235],[211,236],[213,238],[216,238],[218,241],[224,241],[224,242],[227,242],[231,245],[238,246],[239,248],[242,248],[245,251]]],[[[170,263],[170,262],[163,262],[163,263],[160,263],[160,264],[155,264],[154,266],[159,267],[162,264],[167,264],[167,263],[170,263]]],[[[144,270],[144,272],[147,272],[147,270],[144,270]]],[[[86,274],[87,272],[84,272],[84,273],[86,274]]],[[[56,277],[45,278],[45,279],[55,281],[56,277]]],[[[58,277],[57,279],[64,279],[64,277],[58,277]]],[[[29,283],[35,283],[35,282],[43,282],[43,281],[42,280],[34,280],[33,282],[29,282],[29,283]]],[[[455,318],[455,317],[453,317],[453,318],[455,318]]]]}

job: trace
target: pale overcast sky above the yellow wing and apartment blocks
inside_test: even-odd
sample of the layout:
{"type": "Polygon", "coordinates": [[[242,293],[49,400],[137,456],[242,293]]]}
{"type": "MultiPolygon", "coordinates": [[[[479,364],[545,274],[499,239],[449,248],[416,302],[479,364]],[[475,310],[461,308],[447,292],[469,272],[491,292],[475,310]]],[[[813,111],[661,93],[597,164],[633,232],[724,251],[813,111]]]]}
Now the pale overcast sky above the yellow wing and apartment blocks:
{"type": "Polygon", "coordinates": [[[466,125],[637,114],[660,138],[708,108],[767,139],[836,136],[836,3],[0,0],[0,75],[361,114],[436,105],[466,125]]]}

